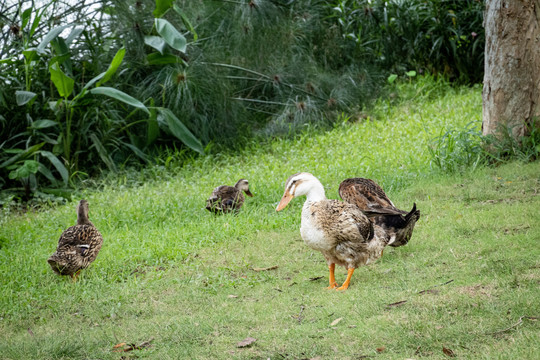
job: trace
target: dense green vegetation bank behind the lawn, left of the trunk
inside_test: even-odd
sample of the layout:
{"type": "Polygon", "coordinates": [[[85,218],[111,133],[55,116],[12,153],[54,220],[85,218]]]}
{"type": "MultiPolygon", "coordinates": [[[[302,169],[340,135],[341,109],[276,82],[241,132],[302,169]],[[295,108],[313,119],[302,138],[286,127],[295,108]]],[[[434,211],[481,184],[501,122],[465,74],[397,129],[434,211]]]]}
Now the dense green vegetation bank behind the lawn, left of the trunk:
{"type": "Polygon", "coordinates": [[[473,0],[3,2],[0,204],[69,198],[81,180],[171,154],[329,129],[390,94],[396,76],[478,82],[482,10],[473,0]]]}

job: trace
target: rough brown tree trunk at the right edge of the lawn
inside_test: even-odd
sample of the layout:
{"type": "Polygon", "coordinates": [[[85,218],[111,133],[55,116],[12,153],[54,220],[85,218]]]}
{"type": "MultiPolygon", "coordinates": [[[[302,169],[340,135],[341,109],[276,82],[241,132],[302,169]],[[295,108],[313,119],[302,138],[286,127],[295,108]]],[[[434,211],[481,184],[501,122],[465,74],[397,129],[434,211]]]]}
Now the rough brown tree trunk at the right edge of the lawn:
{"type": "Polygon", "coordinates": [[[540,117],[540,0],[486,0],[484,28],[482,132],[526,136],[540,117]]]}

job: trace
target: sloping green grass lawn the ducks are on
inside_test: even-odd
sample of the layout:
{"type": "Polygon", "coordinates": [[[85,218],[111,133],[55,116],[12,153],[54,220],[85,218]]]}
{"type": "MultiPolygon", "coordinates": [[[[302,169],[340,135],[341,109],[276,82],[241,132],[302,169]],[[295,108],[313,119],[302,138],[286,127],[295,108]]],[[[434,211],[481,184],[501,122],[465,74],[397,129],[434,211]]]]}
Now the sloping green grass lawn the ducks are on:
{"type": "Polygon", "coordinates": [[[536,358],[538,322],[518,322],[540,316],[540,163],[431,169],[430,140],[480,120],[479,89],[380,103],[369,115],[88,191],[105,243],[76,283],[46,262],[75,221],[74,203],[4,213],[0,358],[444,359],[443,347],[459,358],[536,358]],[[344,178],[364,176],[399,207],[416,202],[411,242],[358,269],[347,292],[327,291],[322,255],[300,238],[303,199],[275,212],[298,171],[316,175],[329,198],[344,178]],[[239,215],[203,209],[216,185],[241,177],[255,197],[239,215]],[[278,268],[252,270],[270,266],[278,268]],[[257,341],[237,348],[248,336],[257,341]],[[152,338],[145,349],[113,351],[152,338]]]}

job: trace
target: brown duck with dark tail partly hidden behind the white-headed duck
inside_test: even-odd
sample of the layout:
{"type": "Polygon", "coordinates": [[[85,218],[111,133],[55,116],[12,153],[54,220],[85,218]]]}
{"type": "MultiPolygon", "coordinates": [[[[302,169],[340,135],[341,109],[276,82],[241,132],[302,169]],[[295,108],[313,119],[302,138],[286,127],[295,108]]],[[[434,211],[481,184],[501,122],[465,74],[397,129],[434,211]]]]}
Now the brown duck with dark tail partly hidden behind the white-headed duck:
{"type": "Polygon", "coordinates": [[[411,239],[414,225],[420,218],[420,210],[413,204],[411,211],[403,211],[395,207],[383,189],[373,180],[350,178],[339,185],[339,196],[358,206],[365,213],[377,213],[373,222],[382,227],[390,236],[388,245],[393,247],[406,245],[411,239]]]}

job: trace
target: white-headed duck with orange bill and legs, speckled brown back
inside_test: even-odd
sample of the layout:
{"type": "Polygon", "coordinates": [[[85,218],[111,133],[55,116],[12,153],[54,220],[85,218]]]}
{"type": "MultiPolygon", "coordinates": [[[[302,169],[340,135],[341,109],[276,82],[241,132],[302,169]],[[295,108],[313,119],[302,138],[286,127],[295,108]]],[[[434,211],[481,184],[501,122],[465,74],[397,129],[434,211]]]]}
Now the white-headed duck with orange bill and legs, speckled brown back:
{"type": "Polygon", "coordinates": [[[302,239],[326,258],[330,270],[329,289],[338,287],[334,275],[336,264],[347,268],[347,279],[337,288],[346,290],[356,268],[382,256],[389,237],[381,227],[373,225],[356,205],[327,199],[321,182],[305,172],[287,179],[285,193],[276,211],[301,195],[307,198],[302,208],[302,239]]]}

